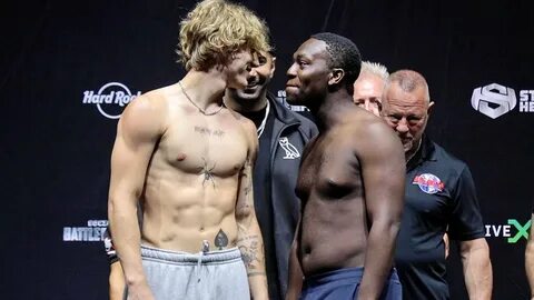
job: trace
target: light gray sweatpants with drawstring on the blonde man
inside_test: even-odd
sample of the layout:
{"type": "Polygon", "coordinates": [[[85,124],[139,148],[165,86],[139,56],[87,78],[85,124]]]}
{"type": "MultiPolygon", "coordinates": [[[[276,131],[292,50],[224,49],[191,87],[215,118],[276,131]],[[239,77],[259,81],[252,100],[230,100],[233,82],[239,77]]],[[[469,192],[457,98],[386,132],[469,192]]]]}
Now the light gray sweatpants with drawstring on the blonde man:
{"type": "Polygon", "coordinates": [[[156,300],[250,299],[237,248],[191,254],[141,246],[141,257],[156,300]]]}

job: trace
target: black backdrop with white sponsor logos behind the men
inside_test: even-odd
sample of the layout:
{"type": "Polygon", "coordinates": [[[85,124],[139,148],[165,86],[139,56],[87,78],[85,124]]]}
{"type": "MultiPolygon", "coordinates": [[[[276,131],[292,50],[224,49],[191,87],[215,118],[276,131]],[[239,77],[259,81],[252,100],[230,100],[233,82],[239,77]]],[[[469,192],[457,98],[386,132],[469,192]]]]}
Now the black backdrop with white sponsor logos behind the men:
{"type": "MultiPolygon", "coordinates": [[[[120,114],[128,99],[97,106],[91,96],[118,100],[176,82],[184,74],[174,63],[178,22],[194,2],[0,4],[2,299],[106,298],[100,231],[117,119],[103,113],[120,114]]],[[[244,1],[266,18],[278,48],[275,93],[293,51],[318,31],[350,38],[364,59],[389,70],[427,78],[436,102],[428,132],[472,169],[494,299],[503,300],[528,297],[522,230],[533,200],[534,114],[522,108],[534,101],[531,2],[244,1]],[[510,109],[495,119],[472,106],[474,89],[491,83],[500,86],[475,100],[486,114],[510,109]],[[508,96],[497,103],[500,87],[508,96]]],[[[457,253],[448,278],[453,299],[467,299],[457,253]]]]}

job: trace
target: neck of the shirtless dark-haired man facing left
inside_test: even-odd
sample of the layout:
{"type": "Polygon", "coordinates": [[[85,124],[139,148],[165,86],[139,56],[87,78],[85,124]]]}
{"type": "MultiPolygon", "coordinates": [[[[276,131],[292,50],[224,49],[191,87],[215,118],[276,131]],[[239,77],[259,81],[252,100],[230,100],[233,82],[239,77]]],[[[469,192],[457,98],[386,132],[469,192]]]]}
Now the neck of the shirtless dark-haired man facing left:
{"type": "Polygon", "coordinates": [[[328,93],[320,106],[312,113],[316,117],[316,123],[319,131],[326,131],[343,121],[342,114],[349,108],[354,107],[352,97],[347,90],[339,89],[328,93]]]}

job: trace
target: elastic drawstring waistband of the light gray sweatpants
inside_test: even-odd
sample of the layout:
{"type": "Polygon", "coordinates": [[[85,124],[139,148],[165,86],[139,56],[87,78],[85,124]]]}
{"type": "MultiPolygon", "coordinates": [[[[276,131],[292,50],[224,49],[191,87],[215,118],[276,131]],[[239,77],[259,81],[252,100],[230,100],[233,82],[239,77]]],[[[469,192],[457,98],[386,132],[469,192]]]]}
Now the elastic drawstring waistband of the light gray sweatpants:
{"type": "Polygon", "coordinates": [[[241,252],[237,248],[230,248],[218,251],[189,253],[151,248],[141,244],[141,257],[144,259],[156,259],[176,263],[197,263],[198,261],[201,261],[202,263],[210,263],[240,260],[241,252]]]}

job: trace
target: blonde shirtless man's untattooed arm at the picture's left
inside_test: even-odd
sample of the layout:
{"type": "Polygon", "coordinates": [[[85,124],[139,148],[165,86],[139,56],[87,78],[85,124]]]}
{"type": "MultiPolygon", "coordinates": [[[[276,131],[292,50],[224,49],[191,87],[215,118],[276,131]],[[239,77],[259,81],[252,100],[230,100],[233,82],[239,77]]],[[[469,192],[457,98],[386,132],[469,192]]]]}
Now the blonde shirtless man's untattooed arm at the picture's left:
{"type": "Polygon", "coordinates": [[[154,299],[142,270],[137,207],[162,117],[148,98],[137,98],[122,113],[111,154],[108,217],[130,299],[154,299]]]}

